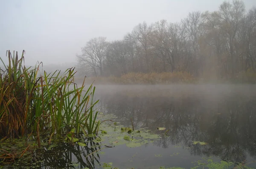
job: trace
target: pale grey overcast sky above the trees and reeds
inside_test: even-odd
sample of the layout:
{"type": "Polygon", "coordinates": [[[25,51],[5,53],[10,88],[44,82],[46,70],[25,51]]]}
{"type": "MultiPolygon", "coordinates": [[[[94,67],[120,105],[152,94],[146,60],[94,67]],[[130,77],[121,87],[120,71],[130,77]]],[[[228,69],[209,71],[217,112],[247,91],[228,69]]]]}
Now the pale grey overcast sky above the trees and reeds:
{"type": "MultiPolygon", "coordinates": [[[[0,0],[0,56],[25,49],[29,65],[76,62],[76,54],[93,37],[122,39],[143,21],[178,22],[191,11],[218,10],[223,1],[0,0]]],[[[248,10],[256,0],[244,4],[248,10]]]]}

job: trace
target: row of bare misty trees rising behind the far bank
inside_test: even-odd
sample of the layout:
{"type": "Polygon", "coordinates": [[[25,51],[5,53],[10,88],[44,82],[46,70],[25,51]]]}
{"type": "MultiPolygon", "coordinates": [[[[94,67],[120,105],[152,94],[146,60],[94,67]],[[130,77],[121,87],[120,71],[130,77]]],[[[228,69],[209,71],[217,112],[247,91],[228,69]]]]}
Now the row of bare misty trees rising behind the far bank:
{"type": "Polygon", "coordinates": [[[186,71],[196,77],[234,77],[256,70],[256,7],[223,2],[218,11],[193,11],[177,23],[139,23],[123,39],[90,39],[77,55],[87,76],[186,71]]]}

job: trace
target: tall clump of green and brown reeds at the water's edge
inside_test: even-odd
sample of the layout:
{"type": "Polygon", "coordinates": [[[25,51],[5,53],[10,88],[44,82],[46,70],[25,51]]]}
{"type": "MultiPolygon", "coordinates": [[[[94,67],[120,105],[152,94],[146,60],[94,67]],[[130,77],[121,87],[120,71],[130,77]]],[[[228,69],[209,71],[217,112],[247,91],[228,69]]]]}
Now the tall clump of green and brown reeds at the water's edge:
{"type": "Polygon", "coordinates": [[[74,83],[74,68],[38,76],[39,65],[26,68],[23,65],[25,51],[18,59],[17,52],[7,52],[9,65],[0,70],[0,137],[19,137],[50,129],[57,135],[81,127],[87,134],[96,133],[99,121],[93,107],[95,87],[84,92],[84,83],[77,87],[74,83]],[[14,57],[15,56],[15,57],[14,57]],[[83,111],[83,112],[82,112],[83,111]]]}

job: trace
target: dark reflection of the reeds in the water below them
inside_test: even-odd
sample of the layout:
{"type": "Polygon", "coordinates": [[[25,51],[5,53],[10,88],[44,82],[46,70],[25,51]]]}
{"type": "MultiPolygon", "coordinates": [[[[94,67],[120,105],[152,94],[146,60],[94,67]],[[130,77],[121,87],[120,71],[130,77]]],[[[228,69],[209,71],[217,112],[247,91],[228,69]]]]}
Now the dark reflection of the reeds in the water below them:
{"type": "MultiPolygon", "coordinates": [[[[94,138],[84,140],[87,146],[79,146],[75,144],[71,146],[68,143],[59,143],[56,146],[47,146],[45,149],[39,149],[34,152],[32,159],[36,168],[41,169],[56,169],[56,168],[95,168],[95,163],[99,163],[99,151],[101,146],[99,143],[93,142],[94,138]],[[75,167],[76,166],[76,167],[75,167]]],[[[26,168],[27,165],[31,166],[30,161],[21,159],[17,162],[19,168],[26,168]]]]}

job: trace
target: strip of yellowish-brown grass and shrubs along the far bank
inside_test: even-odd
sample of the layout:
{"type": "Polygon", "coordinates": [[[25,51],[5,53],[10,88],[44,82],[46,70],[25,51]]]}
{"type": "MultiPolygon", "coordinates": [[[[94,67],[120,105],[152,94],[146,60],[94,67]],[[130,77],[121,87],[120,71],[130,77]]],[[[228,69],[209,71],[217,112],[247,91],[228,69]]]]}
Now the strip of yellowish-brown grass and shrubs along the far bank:
{"type": "MultiPolygon", "coordinates": [[[[83,78],[76,77],[75,82],[82,83],[83,78]]],[[[224,76],[222,78],[213,78],[205,76],[204,78],[194,77],[188,72],[163,72],[163,73],[127,73],[120,77],[116,76],[99,76],[88,77],[86,84],[116,84],[116,85],[131,85],[131,84],[198,84],[198,83],[245,83],[255,84],[256,73],[246,71],[237,73],[234,77],[224,76]]]]}

